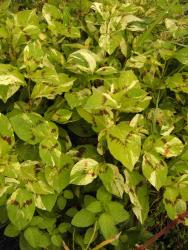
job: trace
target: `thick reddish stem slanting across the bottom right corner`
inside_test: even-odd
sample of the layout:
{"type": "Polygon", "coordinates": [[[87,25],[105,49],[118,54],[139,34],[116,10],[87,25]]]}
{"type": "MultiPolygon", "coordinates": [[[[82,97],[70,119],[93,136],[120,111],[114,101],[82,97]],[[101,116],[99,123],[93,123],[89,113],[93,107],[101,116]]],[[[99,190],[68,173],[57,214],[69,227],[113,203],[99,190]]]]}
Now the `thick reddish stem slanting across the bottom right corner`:
{"type": "Polygon", "coordinates": [[[169,223],[161,231],[156,233],[153,237],[148,239],[143,245],[136,246],[135,250],[146,250],[149,246],[155,243],[161,236],[167,234],[170,231],[170,229],[175,227],[179,222],[183,221],[186,217],[188,217],[188,211],[178,215],[178,217],[175,220],[169,223]]]}

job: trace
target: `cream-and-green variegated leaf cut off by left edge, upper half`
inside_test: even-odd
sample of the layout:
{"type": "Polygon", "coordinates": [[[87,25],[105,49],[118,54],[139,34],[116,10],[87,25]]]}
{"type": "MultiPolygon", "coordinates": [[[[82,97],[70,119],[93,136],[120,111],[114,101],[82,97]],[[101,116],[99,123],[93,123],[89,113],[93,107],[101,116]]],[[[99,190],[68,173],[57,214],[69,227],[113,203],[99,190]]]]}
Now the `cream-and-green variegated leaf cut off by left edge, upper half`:
{"type": "Polygon", "coordinates": [[[26,85],[24,76],[10,64],[0,64],[0,99],[6,102],[20,86],[26,85]]]}

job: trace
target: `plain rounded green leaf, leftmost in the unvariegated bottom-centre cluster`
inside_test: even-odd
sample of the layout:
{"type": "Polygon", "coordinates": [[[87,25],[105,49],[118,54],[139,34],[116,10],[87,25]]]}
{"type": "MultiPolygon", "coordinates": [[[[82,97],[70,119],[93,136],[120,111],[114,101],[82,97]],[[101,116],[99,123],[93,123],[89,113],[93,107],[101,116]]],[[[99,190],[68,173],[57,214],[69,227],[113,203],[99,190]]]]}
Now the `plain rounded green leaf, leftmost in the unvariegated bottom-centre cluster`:
{"type": "Polygon", "coordinates": [[[95,216],[92,212],[81,209],[73,217],[71,224],[76,227],[89,227],[95,222],[95,216]]]}

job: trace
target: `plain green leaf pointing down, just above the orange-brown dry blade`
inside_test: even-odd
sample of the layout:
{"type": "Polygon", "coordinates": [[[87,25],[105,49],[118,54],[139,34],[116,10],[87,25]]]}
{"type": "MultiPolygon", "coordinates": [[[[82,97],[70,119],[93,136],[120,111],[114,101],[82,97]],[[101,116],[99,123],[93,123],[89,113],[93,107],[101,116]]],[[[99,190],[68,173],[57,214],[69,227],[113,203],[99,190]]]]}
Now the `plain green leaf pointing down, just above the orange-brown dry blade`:
{"type": "MultiPolygon", "coordinates": [[[[118,234],[113,218],[107,213],[103,213],[99,217],[99,226],[105,240],[114,238],[118,234]]],[[[118,245],[118,241],[114,241],[112,245],[118,245]]]]}

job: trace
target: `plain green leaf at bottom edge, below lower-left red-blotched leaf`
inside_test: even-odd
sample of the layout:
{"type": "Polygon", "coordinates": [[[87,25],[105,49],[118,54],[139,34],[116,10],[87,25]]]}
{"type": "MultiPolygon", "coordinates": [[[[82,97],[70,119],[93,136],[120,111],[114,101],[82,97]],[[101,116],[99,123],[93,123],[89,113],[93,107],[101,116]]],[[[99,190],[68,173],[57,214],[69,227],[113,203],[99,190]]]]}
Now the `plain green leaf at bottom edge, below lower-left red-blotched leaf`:
{"type": "Polygon", "coordinates": [[[24,237],[33,248],[46,248],[50,245],[48,234],[41,231],[38,227],[28,227],[24,231],[24,237]]]}

